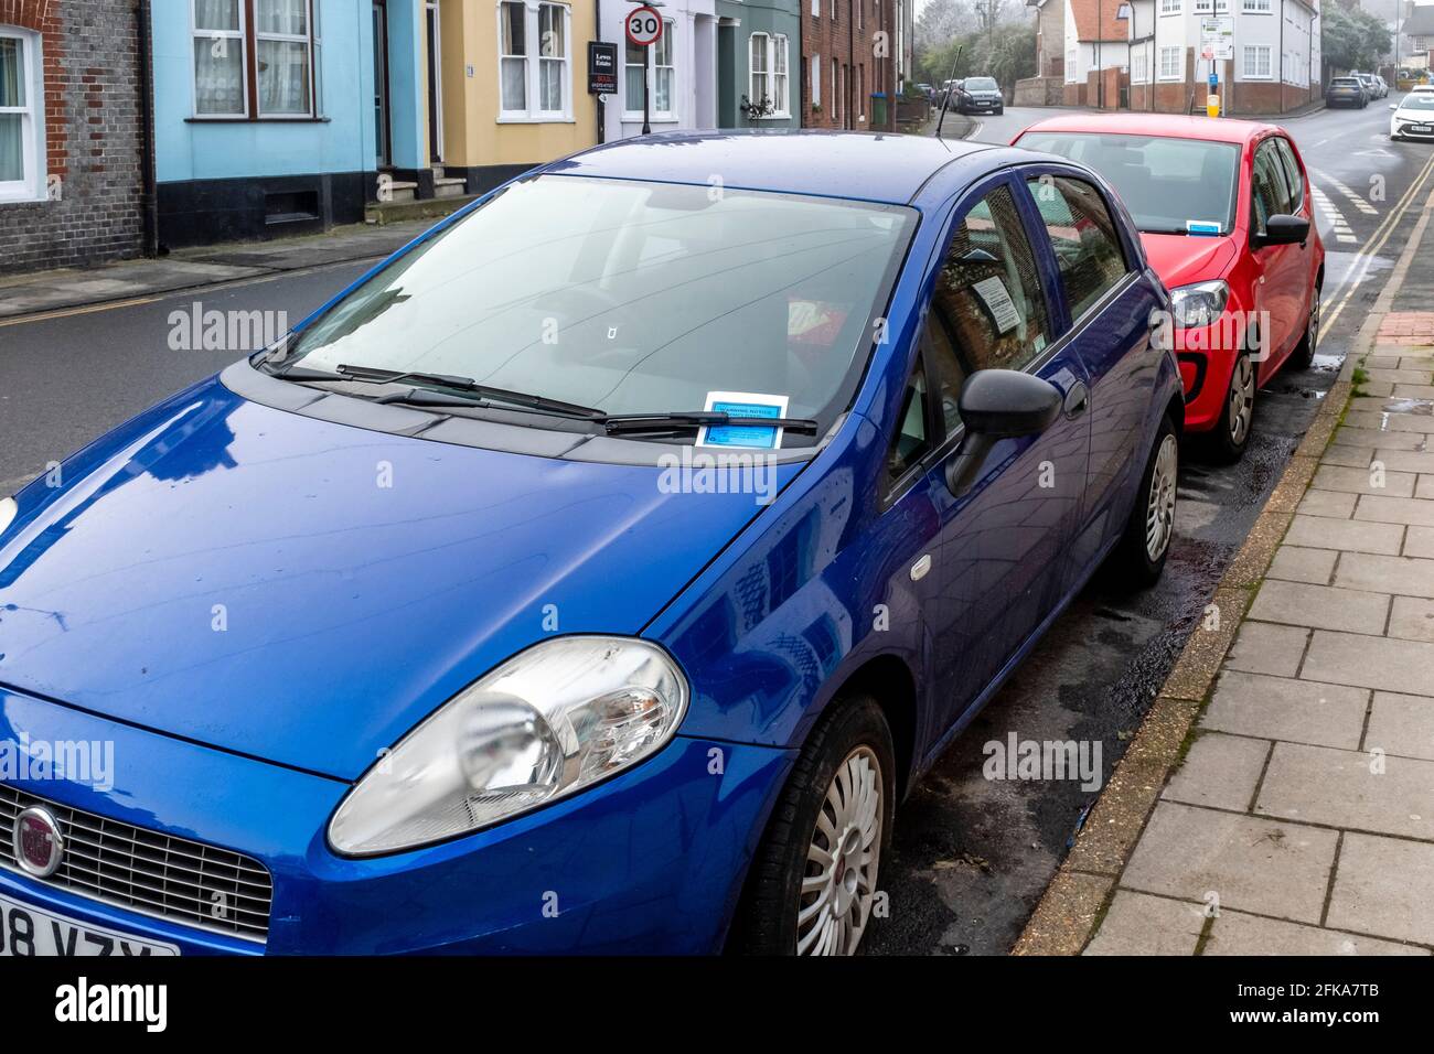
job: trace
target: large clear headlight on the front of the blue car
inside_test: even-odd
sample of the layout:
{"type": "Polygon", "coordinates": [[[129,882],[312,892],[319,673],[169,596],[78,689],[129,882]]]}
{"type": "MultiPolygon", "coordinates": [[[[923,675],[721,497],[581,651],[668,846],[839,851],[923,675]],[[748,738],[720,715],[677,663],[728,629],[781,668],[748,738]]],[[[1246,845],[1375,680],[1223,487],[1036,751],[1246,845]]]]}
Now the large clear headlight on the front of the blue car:
{"type": "Polygon", "coordinates": [[[556,802],[663,747],[687,695],[681,670],[647,641],[543,641],[404,736],[348,792],[328,842],[393,853],[556,802]]]}

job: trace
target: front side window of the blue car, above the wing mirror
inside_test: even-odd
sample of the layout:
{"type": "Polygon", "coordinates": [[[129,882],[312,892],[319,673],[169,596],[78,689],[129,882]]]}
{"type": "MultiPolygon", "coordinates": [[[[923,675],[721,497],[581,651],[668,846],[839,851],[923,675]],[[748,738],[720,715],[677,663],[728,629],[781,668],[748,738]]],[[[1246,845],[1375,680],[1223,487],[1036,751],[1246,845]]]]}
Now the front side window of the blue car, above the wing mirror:
{"type": "Polygon", "coordinates": [[[961,377],[975,370],[1021,370],[1040,357],[1050,337],[1035,254],[1015,198],[998,186],[967,212],[936,274],[926,321],[932,374],[951,381],[954,407],[961,377]]]}

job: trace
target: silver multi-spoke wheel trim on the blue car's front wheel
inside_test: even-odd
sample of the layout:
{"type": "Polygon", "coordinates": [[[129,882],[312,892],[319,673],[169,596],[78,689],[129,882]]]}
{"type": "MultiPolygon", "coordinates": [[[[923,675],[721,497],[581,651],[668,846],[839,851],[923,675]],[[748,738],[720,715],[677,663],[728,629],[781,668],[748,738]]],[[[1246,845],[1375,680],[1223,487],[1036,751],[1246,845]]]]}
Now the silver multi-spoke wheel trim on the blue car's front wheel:
{"type": "Polygon", "coordinates": [[[807,839],[797,895],[797,954],[853,955],[876,898],[885,815],[882,766],[856,747],[837,766],[807,839]]]}

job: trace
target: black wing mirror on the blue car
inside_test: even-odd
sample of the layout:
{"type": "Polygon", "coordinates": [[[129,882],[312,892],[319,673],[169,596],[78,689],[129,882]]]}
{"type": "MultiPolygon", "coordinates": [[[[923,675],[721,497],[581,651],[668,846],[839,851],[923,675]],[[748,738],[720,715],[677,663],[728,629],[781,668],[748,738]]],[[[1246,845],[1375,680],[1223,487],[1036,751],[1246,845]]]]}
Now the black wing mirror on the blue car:
{"type": "Polygon", "coordinates": [[[1002,439],[1045,432],[1061,416],[1065,396],[1048,380],[1020,370],[977,370],[961,386],[958,407],[967,437],[946,462],[946,486],[961,498],[977,482],[991,449],[1002,439]]]}

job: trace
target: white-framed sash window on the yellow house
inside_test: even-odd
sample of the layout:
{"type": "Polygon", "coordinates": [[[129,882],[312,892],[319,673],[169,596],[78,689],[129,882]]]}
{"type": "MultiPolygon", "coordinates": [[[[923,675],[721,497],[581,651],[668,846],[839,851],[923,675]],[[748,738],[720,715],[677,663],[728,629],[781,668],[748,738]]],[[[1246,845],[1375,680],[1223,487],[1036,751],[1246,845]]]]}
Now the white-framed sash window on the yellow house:
{"type": "Polygon", "coordinates": [[[571,24],[565,3],[499,1],[499,120],[572,119],[571,24]]]}

